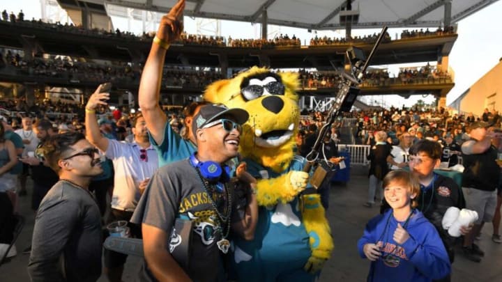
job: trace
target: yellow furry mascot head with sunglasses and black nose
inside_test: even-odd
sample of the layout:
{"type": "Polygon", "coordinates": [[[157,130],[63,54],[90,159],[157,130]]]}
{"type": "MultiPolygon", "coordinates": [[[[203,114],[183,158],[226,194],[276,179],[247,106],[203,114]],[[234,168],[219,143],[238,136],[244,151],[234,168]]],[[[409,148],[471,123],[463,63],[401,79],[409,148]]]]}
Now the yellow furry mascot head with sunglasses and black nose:
{"type": "Polygon", "coordinates": [[[297,88],[296,73],[253,67],[209,85],[204,100],[248,111],[241,154],[280,173],[294,157],[300,120],[297,88]]]}

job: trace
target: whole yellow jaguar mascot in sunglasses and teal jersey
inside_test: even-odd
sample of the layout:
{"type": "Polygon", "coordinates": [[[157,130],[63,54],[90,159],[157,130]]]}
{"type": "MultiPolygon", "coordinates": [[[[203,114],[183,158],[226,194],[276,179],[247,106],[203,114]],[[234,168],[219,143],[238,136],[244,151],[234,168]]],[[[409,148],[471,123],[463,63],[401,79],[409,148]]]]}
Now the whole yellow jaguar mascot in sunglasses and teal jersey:
{"type": "Polygon", "coordinates": [[[298,75],[253,67],[208,86],[204,100],[243,108],[240,152],[257,178],[259,221],[254,240],[234,240],[238,281],[314,281],[333,240],[319,194],[301,192],[309,175],[295,155],[298,75]]]}

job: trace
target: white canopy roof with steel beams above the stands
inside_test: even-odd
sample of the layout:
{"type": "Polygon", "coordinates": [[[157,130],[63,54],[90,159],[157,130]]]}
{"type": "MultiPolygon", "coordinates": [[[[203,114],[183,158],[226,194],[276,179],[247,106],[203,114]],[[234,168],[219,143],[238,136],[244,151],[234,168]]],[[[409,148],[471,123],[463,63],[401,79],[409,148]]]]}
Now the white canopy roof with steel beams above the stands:
{"type": "MultiPolygon", "coordinates": [[[[437,27],[455,24],[497,0],[187,0],[185,15],[304,29],[344,29],[341,16],[358,15],[353,29],[381,27],[437,27]]],[[[58,0],[67,10],[128,17],[126,8],[167,13],[176,0],[58,0]],[[109,8],[113,6],[114,8],[109,8]],[[118,8],[116,6],[119,6],[118,8]],[[123,8],[123,9],[121,9],[123,8]]]]}

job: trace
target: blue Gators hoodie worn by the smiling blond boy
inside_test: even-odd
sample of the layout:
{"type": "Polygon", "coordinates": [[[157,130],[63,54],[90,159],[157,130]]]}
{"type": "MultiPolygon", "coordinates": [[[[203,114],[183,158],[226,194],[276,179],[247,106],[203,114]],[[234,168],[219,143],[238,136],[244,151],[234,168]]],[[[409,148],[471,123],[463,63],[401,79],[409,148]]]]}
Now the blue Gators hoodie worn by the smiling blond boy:
{"type": "Polygon", "coordinates": [[[406,226],[400,222],[410,235],[402,245],[393,240],[398,221],[392,212],[372,218],[358,241],[362,258],[366,257],[365,244],[377,244],[381,249],[381,257],[371,263],[368,281],[432,281],[450,274],[448,253],[436,228],[422,212],[414,210],[406,226]]]}

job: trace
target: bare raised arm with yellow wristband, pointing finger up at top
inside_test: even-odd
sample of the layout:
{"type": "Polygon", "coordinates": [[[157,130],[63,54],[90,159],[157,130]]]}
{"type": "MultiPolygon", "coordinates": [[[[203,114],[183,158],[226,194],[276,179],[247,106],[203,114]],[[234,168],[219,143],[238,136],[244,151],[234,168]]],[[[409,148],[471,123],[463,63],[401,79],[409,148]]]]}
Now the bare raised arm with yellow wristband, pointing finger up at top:
{"type": "Polygon", "coordinates": [[[139,107],[151,136],[158,144],[162,143],[167,123],[167,116],[159,104],[162,68],[169,44],[179,38],[183,31],[180,19],[184,9],[185,0],[180,0],[162,17],[139,83],[139,107]]]}

